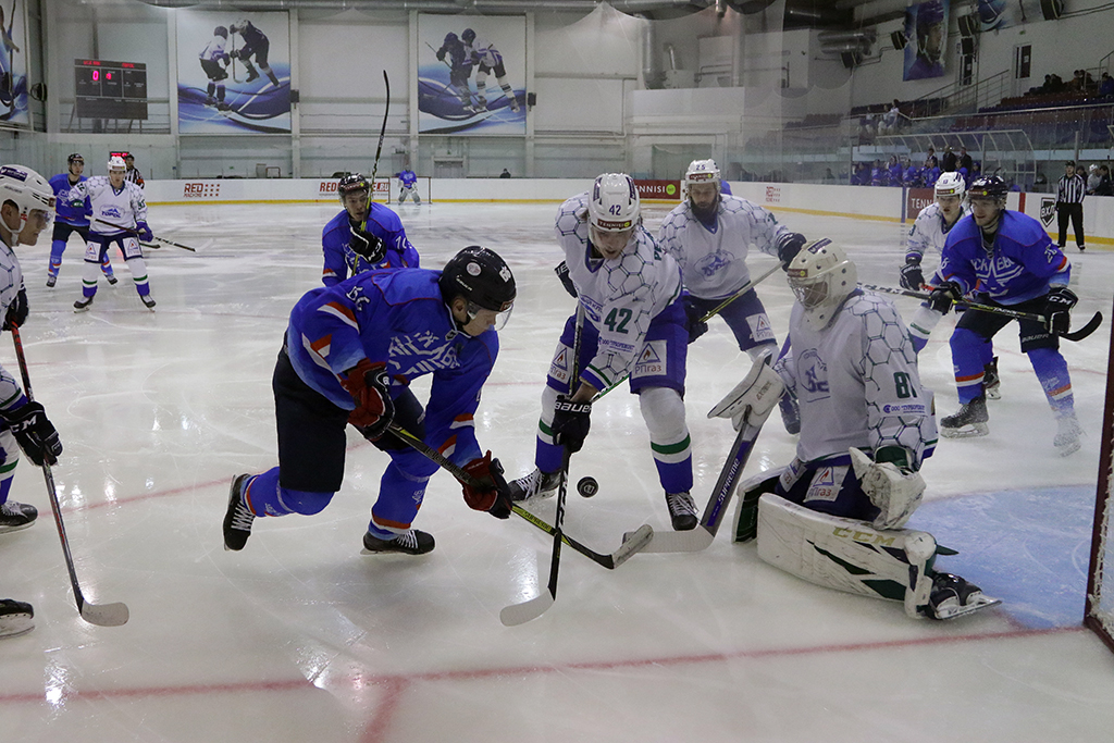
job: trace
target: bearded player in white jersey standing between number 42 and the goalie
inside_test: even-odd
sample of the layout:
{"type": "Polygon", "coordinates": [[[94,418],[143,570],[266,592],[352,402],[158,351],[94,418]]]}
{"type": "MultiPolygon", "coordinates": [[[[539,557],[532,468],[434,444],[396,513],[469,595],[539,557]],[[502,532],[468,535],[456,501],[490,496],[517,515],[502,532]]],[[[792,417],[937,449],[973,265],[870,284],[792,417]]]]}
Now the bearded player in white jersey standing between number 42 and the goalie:
{"type": "MultiPolygon", "coordinates": [[[[685,172],[683,201],[662,222],[657,239],[681,265],[691,321],[743,291],[719,312],[739,350],[752,361],[778,350],[762,301],[753,289],[745,290],[751,281],[746,257],[753,245],[788,266],[804,244],[804,235],[778,224],[758,204],[723,194],[714,160],[693,160],[685,172]]],[[[789,432],[797,433],[800,422],[791,397],[782,402],[782,417],[789,432]]]]}

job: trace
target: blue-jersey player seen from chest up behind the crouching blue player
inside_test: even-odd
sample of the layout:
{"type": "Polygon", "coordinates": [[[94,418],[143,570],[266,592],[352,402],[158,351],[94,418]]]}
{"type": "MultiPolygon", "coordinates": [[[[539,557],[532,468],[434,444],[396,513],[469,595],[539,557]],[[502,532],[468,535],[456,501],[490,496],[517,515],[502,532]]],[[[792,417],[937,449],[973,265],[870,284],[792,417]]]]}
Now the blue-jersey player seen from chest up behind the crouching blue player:
{"type": "Polygon", "coordinates": [[[399,215],[371,201],[371,184],[359,173],[336,187],[344,211],[321,231],[325,286],[374,268],[417,268],[418,251],[407,239],[399,215]],[[363,228],[361,229],[361,225],[363,228]]]}

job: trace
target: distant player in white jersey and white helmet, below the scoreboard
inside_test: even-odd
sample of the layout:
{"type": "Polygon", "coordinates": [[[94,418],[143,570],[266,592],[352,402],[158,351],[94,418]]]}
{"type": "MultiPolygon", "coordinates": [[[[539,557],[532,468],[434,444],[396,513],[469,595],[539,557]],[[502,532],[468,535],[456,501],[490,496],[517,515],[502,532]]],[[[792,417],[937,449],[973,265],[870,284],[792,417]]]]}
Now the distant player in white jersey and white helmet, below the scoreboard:
{"type": "Polygon", "coordinates": [[[139,299],[147,309],[155,309],[155,297],[150,295],[147,283],[147,264],[139,246],[140,237],[150,242],[155,235],[147,226],[147,202],[144,201],[143,189],[124,179],[126,170],[123,157],[110,157],[107,176],[92,176],[82,180],[66,196],[70,203],[85,202],[88,197],[92,204],[89,242],[85,251],[85,273],[81,275],[81,299],[74,303],[75,312],[85,312],[92,304],[92,297],[97,294],[100,264],[114,244],[119,246],[124,255],[124,263],[131,272],[139,299]]]}

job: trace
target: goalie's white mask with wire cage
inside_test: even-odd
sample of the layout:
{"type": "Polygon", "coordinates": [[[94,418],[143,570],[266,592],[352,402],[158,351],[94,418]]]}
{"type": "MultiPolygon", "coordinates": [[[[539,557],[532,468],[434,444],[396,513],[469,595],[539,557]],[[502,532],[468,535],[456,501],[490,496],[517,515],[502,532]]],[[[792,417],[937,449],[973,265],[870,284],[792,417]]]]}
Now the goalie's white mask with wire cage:
{"type": "Polygon", "coordinates": [[[815,330],[831,322],[847,295],[859,285],[859,272],[842,247],[827,237],[804,245],[786,271],[789,287],[815,330]]]}

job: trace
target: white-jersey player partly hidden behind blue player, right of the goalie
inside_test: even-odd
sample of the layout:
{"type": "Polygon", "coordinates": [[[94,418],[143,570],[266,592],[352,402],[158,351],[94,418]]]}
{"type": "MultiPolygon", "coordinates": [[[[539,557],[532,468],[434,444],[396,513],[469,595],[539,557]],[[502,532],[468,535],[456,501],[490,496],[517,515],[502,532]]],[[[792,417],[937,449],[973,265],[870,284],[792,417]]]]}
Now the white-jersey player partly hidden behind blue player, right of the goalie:
{"type": "MultiPolygon", "coordinates": [[[[927,283],[925,282],[921,262],[926,253],[934,253],[939,258],[944,244],[948,239],[948,233],[956,226],[960,217],[971,213],[970,205],[964,198],[967,186],[959,173],[941,175],[936,182],[934,190],[936,201],[917,215],[906,239],[906,262],[901,266],[899,283],[903,289],[913,292],[931,290],[934,286],[940,285],[941,280],[938,273],[934,274],[927,283]]],[[[928,344],[928,336],[942,316],[932,310],[927,302],[917,310],[909,322],[909,334],[912,336],[912,348],[917,353],[920,353],[920,350],[928,344]]],[[[987,398],[997,400],[1001,397],[1001,384],[998,379],[998,358],[994,355],[994,346],[990,343],[986,344],[983,355],[983,388],[987,398]]]]}

